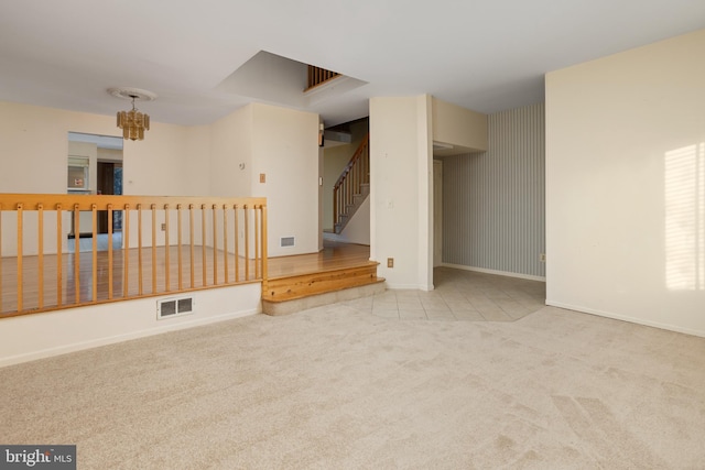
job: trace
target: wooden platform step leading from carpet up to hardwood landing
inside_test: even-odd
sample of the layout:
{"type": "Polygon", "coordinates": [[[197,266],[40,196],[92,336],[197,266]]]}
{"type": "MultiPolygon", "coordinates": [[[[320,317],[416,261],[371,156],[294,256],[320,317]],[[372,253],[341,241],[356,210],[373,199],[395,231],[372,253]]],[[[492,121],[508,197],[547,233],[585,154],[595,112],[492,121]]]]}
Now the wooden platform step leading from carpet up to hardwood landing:
{"type": "Polygon", "coordinates": [[[293,311],[373,295],[384,291],[377,277],[377,262],[323,272],[270,278],[262,292],[262,311],[286,315],[293,311]]]}

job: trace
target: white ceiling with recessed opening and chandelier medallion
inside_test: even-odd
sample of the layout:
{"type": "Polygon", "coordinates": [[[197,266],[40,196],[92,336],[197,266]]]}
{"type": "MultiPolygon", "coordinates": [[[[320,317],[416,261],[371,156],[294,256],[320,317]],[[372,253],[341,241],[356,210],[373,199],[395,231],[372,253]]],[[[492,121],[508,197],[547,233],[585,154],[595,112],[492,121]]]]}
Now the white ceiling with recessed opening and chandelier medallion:
{"type": "Polygon", "coordinates": [[[267,51],[367,83],[306,108],[326,124],[375,96],[491,113],[541,101],[546,72],[702,28],[703,0],[6,0],[0,100],[112,116],[129,103],[106,89],[133,87],[153,121],[205,124],[256,100],[219,85],[267,51]]]}

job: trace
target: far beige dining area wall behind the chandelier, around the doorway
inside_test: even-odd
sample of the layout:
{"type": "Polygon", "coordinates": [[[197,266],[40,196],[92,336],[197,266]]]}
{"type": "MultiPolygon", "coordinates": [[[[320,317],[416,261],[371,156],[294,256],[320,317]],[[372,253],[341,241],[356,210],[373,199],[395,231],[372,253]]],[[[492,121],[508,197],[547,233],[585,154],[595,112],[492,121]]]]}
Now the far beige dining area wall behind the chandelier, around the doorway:
{"type": "MultiPolygon", "coordinates": [[[[66,193],[68,132],[120,136],[117,131],[113,117],[0,102],[0,192],[66,193]]],[[[209,159],[203,146],[195,145],[206,143],[203,135],[200,128],[153,123],[144,141],[124,141],[123,193],[208,195],[208,173],[199,170],[203,165],[208,166],[209,159]]],[[[95,156],[91,164],[89,183],[95,190],[95,156]]],[[[52,215],[48,217],[44,248],[46,253],[54,253],[56,238],[50,231],[52,215]]],[[[4,212],[2,218],[3,230],[11,230],[15,223],[13,215],[4,212]]],[[[25,233],[25,253],[32,254],[36,252],[36,229],[31,218],[25,233]]],[[[158,232],[158,237],[159,242],[163,242],[163,232],[158,232]]],[[[151,243],[151,240],[145,242],[151,243]]],[[[3,255],[14,255],[15,252],[15,240],[3,237],[3,255]]]]}

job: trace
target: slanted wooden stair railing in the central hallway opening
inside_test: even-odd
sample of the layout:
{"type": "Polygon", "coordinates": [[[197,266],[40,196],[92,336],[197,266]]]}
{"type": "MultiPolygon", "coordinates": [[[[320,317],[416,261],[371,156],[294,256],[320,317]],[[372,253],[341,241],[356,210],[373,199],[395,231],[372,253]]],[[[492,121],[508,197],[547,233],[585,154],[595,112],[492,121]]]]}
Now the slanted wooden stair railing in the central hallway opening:
{"type": "Polygon", "coordinates": [[[357,151],[340,173],[333,187],[333,223],[338,225],[348,209],[354,206],[356,195],[362,193],[362,185],[370,182],[370,135],[367,134],[357,151]]]}

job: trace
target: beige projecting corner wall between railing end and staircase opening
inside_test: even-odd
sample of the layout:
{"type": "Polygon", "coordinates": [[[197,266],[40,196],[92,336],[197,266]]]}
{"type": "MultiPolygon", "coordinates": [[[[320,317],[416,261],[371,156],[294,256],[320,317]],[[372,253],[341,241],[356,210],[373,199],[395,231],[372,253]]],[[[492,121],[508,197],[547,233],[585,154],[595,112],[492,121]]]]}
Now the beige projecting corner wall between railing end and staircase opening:
{"type": "Polygon", "coordinates": [[[210,194],[267,197],[270,256],[318,251],[317,135],[317,114],[260,103],[210,125],[210,194]]]}

